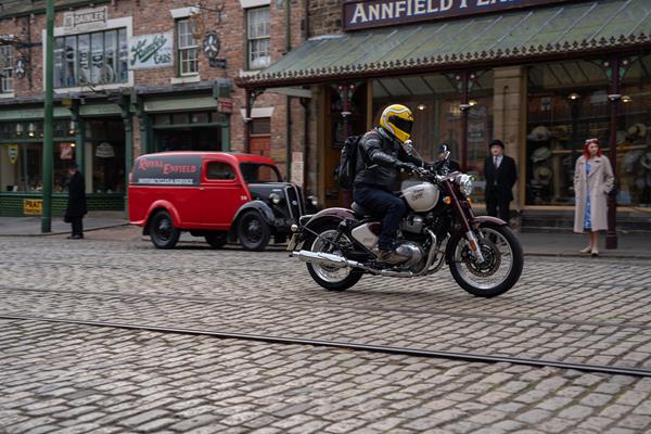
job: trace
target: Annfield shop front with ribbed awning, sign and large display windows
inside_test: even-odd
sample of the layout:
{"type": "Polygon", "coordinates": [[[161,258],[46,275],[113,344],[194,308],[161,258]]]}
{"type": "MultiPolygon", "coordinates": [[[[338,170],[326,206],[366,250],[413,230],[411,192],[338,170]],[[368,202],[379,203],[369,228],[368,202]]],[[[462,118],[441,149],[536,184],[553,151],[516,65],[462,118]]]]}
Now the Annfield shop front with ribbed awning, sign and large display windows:
{"type": "Polygon", "coordinates": [[[321,99],[324,125],[312,144],[321,201],[348,205],[335,194],[341,143],[400,103],[414,112],[419,153],[434,159],[448,143],[475,177],[475,202],[483,201],[488,142],[506,143],[519,170],[513,224],[540,210],[552,213],[550,222],[572,214],[574,164],[585,140],[598,138],[615,168],[620,221],[639,217],[651,229],[648,2],[469,1],[486,8],[468,10],[446,2],[455,17],[417,14],[414,5],[398,17],[397,3],[411,4],[346,2],[343,34],[314,37],[239,81],[252,92],[310,86],[321,99]]]}

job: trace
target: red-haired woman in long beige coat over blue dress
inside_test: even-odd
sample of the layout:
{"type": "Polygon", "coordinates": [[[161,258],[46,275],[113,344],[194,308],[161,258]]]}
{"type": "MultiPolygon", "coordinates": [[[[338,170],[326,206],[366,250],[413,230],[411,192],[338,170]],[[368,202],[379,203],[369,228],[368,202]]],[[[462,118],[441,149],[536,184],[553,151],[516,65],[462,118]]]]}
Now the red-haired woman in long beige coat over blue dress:
{"type": "Polygon", "coordinates": [[[590,244],[580,250],[599,256],[599,231],[608,229],[607,196],[615,177],[610,161],[599,149],[599,139],[588,139],[574,168],[574,232],[588,232],[590,244]]]}

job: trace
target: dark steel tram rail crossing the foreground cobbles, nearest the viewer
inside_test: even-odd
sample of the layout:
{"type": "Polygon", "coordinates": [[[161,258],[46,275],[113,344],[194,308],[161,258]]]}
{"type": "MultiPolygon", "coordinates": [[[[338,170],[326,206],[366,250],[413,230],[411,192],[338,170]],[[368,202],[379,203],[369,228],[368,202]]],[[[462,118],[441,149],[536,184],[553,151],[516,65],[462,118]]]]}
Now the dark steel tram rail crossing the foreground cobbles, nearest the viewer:
{"type": "Polygon", "coordinates": [[[650,369],[638,369],[638,368],[623,368],[612,367],[604,365],[589,365],[589,363],[572,363],[562,362],[546,359],[535,358],[522,358],[522,357],[508,357],[508,356],[492,356],[480,353],[459,353],[459,352],[445,352],[445,350],[430,350],[430,349],[418,349],[399,346],[385,346],[385,345],[371,345],[371,344],[359,344],[354,342],[343,341],[328,341],[328,340],[316,340],[316,339],[302,339],[291,336],[279,336],[270,334],[248,334],[248,333],[237,333],[218,330],[202,330],[191,328],[171,328],[161,327],[152,324],[138,324],[127,322],[111,322],[111,321],[94,321],[94,320],[79,320],[79,319],[60,319],[43,316],[30,316],[30,315],[17,315],[11,312],[0,312],[0,320],[20,320],[20,321],[36,321],[36,322],[51,322],[51,323],[65,323],[73,326],[84,327],[98,327],[98,328],[111,328],[120,330],[137,330],[137,331],[149,331],[156,333],[174,333],[174,334],[186,334],[194,336],[210,336],[221,340],[242,340],[242,341],[255,341],[271,344],[284,344],[284,345],[309,345],[315,347],[326,348],[337,348],[348,349],[354,352],[367,352],[367,353],[381,353],[386,355],[401,355],[419,358],[443,358],[450,360],[460,360],[467,362],[483,362],[483,363],[511,363],[511,365],[524,365],[538,368],[557,368],[557,369],[572,369],[582,372],[591,373],[603,373],[609,375],[629,375],[639,378],[651,378],[650,369]]]}

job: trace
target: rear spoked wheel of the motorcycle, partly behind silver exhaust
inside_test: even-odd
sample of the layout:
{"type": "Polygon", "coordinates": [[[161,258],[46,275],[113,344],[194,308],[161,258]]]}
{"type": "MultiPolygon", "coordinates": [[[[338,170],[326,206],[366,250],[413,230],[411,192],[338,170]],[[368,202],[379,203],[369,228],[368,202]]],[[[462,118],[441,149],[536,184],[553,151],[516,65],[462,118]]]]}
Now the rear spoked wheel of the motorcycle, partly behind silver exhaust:
{"type": "MultiPolygon", "coordinates": [[[[309,250],[311,252],[323,252],[333,255],[341,255],[341,251],[336,246],[326,241],[336,239],[336,224],[321,227],[316,231],[321,238],[312,235],[310,240],[307,240],[306,245],[310,246],[309,250]]],[[[343,235],[337,243],[341,245],[353,244],[346,235],[343,235]]],[[[356,270],[350,267],[340,268],[311,263],[307,264],[307,270],[315,282],[329,291],[347,290],[357,283],[363,273],[361,270],[356,270]]]]}

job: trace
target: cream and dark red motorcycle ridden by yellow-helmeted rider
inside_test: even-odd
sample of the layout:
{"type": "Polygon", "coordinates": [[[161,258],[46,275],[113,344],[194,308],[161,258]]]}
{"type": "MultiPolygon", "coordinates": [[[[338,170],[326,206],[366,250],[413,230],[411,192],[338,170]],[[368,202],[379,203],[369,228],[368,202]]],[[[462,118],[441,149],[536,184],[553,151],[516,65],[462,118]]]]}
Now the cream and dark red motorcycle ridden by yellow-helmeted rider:
{"type": "Polygon", "coordinates": [[[315,282],[331,291],[352,288],[365,273],[417,278],[447,264],[470,294],[506,293],[522,273],[520,241],[506,221],[474,215],[469,199],[473,178],[449,173],[448,162],[449,153],[441,164],[417,168],[411,174],[417,183],[403,188],[408,214],[400,221],[391,261],[380,259],[381,221],[356,203],[352,209],[327,208],[301,217],[292,227],[290,256],[307,263],[315,282]]]}

